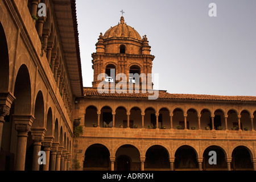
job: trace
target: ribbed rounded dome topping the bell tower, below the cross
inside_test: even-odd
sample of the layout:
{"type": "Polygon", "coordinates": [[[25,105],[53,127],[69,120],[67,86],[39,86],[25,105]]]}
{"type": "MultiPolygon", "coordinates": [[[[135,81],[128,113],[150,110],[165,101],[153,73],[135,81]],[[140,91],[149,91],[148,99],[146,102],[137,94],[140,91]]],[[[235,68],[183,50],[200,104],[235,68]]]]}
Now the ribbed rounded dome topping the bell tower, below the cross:
{"type": "Polygon", "coordinates": [[[104,39],[108,38],[132,38],[142,40],[141,35],[132,27],[127,26],[125,19],[121,16],[120,23],[117,26],[111,27],[104,34],[104,39]]]}

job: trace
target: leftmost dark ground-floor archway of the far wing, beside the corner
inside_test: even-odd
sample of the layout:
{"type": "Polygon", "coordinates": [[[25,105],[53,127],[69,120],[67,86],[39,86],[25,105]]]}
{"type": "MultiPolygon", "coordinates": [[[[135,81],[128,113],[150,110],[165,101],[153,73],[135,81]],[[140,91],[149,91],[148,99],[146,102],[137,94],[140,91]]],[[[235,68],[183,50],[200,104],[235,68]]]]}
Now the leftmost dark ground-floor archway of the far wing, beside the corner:
{"type": "Polygon", "coordinates": [[[84,171],[110,171],[110,153],[104,145],[92,144],[84,156],[84,171]]]}

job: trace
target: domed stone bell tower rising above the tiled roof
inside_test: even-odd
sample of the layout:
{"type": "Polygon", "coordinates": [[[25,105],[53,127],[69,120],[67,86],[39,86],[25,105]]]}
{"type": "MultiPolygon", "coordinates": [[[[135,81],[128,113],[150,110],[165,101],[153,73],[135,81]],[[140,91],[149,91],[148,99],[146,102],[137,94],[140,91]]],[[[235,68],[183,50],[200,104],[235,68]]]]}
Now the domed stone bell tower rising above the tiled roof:
{"type": "MultiPolygon", "coordinates": [[[[116,79],[119,73],[126,75],[127,84],[136,82],[133,77],[130,77],[130,74],[135,73],[141,76],[140,82],[152,82],[151,77],[147,75],[152,73],[152,61],[155,56],[150,52],[151,47],[148,45],[147,36],[144,35],[141,38],[139,33],[128,26],[121,16],[116,26],[110,27],[104,35],[100,33],[96,52],[92,53],[93,87],[97,87],[102,81],[117,84],[120,81],[116,79]],[[98,80],[98,75],[101,73],[105,73],[106,77],[98,80]]],[[[127,88],[129,88],[128,85],[127,88]]]]}

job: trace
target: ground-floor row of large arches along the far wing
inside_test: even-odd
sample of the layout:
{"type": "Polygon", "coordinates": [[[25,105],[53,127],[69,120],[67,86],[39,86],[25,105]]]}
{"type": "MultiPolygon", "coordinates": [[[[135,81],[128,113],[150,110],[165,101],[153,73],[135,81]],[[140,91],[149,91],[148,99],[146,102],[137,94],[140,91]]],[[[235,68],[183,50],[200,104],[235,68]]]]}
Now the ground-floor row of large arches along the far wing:
{"type": "Polygon", "coordinates": [[[180,171],[180,170],[255,170],[256,160],[246,146],[235,146],[228,151],[221,146],[203,146],[203,153],[193,146],[183,145],[167,149],[161,144],[149,144],[145,148],[133,144],[123,144],[117,148],[109,148],[95,143],[84,149],[82,163],[84,170],[112,171],[180,171]],[[109,152],[112,151],[113,152],[109,152]],[[209,151],[216,151],[217,164],[210,165],[209,151]]]}

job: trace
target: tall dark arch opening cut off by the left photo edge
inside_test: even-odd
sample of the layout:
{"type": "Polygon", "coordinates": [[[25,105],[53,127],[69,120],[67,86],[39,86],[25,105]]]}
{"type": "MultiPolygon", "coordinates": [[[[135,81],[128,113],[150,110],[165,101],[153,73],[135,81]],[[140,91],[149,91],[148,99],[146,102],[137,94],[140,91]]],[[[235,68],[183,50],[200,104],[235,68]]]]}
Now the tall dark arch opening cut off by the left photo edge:
{"type": "Polygon", "coordinates": [[[5,31],[0,22],[0,92],[9,91],[9,52],[5,31]]]}

